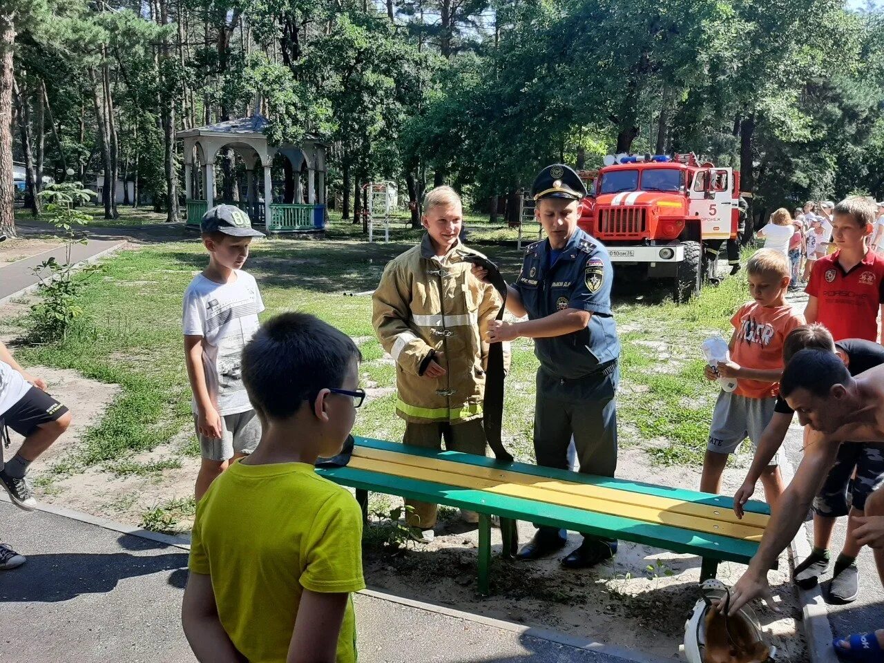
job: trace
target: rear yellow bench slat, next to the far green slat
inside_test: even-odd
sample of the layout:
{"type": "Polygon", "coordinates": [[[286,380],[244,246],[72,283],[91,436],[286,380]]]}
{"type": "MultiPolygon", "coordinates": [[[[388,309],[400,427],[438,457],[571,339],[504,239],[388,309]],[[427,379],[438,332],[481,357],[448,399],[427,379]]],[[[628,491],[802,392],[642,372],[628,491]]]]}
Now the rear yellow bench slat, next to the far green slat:
{"type": "MultiPolygon", "coordinates": [[[[638,503],[639,506],[652,507],[659,509],[660,511],[696,516],[718,522],[728,522],[743,527],[758,528],[759,531],[764,530],[767,521],[770,518],[770,516],[766,514],[753,514],[747,512],[743,515],[743,519],[740,520],[731,509],[713,507],[707,504],[685,502],[681,499],[665,498],[657,495],[645,495],[637,492],[618,491],[614,488],[606,488],[605,486],[578,484],[560,481],[558,479],[545,479],[540,476],[527,475],[522,472],[514,472],[506,469],[483,468],[462,462],[414,456],[410,453],[396,453],[385,451],[383,449],[373,449],[368,446],[356,446],[354,447],[353,453],[355,456],[361,458],[389,461],[415,468],[434,469],[462,476],[475,476],[476,478],[489,479],[507,484],[530,485],[554,492],[560,492],[563,493],[563,495],[568,496],[576,495],[595,499],[606,499],[627,506],[638,503]]],[[[567,497],[563,496],[561,500],[562,501],[558,503],[562,506],[571,506],[570,502],[567,501],[567,497]]]]}

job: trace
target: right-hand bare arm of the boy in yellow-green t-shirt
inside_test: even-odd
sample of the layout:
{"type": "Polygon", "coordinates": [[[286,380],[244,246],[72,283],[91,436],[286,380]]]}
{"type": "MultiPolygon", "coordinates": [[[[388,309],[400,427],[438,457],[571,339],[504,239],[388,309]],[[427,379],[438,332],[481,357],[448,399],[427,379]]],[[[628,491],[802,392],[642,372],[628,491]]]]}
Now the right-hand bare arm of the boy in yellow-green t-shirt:
{"type": "Polygon", "coordinates": [[[334,663],[348,592],[304,590],[286,663],[334,663]]]}

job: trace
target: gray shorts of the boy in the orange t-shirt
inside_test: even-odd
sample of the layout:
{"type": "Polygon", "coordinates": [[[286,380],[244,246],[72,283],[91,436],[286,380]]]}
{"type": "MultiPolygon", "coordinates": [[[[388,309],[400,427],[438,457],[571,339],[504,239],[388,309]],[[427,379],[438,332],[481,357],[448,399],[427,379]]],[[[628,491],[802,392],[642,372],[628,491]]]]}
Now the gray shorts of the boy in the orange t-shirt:
{"type": "MultiPolygon", "coordinates": [[[[745,438],[750,439],[753,451],[758,449],[761,433],[773,418],[775,405],[775,398],[751,399],[734,392],[720,392],[706,449],[714,453],[735,453],[745,438]]],[[[777,456],[770,464],[779,464],[777,456]]]]}

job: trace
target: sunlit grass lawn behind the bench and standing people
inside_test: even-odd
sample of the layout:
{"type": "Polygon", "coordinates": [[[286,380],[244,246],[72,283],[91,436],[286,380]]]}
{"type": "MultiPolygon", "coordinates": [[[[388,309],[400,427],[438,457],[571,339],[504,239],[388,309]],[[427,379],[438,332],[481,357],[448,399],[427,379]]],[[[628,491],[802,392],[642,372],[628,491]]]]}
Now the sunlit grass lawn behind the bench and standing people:
{"type": "MultiPolygon", "coordinates": [[[[341,222],[332,222],[336,235],[341,222]]],[[[368,244],[364,240],[307,241],[273,238],[255,242],[247,269],[261,286],[263,318],[285,310],[313,313],[357,340],[362,349],[362,385],[376,398],[360,410],[357,434],[397,440],[404,424],[394,414],[394,366],[384,360],[371,327],[371,290],[385,264],[408,243],[368,244]]],[[[400,239],[400,238],[397,238],[400,239]]],[[[478,244],[513,279],[521,252],[478,244]]],[[[20,347],[26,363],[80,370],[87,377],[122,386],[104,419],[88,432],[80,452],[57,470],[101,464],[115,473],[138,472],[125,461],[133,453],[164,444],[192,426],[190,391],[180,331],[181,296],[207,257],[197,240],[150,245],[103,261],[83,291],[84,316],[63,343],[20,347]]],[[[623,343],[619,398],[621,440],[648,444],[663,463],[697,463],[705,448],[716,390],[703,378],[700,344],[710,331],[728,334],[735,307],[748,299],[744,278],[706,288],[689,305],[675,307],[662,290],[622,295],[615,316],[623,343]]],[[[13,321],[25,336],[27,320],[13,321]]],[[[533,344],[519,339],[507,378],[504,439],[520,460],[533,459],[533,344]]],[[[198,454],[194,439],[181,453],[198,454]]]]}

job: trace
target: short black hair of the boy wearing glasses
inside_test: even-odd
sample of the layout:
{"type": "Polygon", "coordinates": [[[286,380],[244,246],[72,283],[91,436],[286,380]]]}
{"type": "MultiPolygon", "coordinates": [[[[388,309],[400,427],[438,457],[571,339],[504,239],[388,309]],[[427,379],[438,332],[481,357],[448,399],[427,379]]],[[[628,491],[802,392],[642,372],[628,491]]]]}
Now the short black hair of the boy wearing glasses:
{"type": "Polygon", "coordinates": [[[347,334],[307,313],[283,313],[242,350],[242,381],[255,410],[287,419],[325,388],[339,389],[362,353],[347,334]]]}

